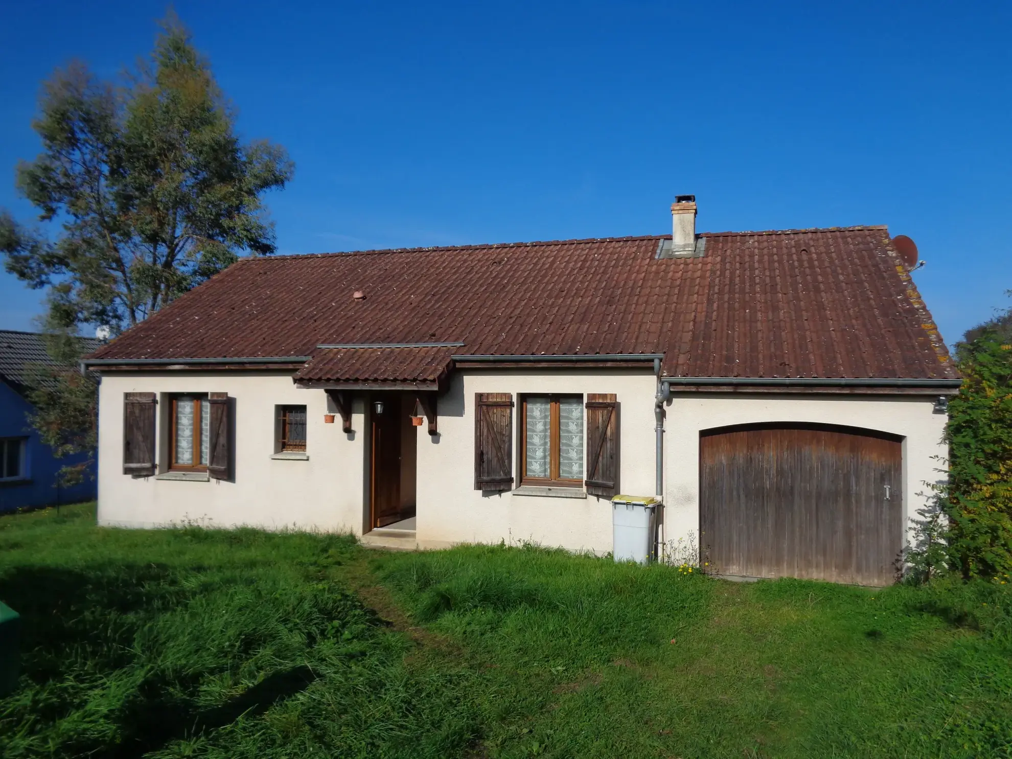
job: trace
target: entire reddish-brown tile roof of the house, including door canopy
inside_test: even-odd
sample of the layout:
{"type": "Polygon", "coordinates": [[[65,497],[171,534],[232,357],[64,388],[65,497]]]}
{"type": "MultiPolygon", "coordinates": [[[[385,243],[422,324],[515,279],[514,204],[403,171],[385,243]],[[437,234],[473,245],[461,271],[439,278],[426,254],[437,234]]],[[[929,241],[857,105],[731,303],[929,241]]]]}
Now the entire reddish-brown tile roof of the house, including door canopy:
{"type": "MultiPolygon", "coordinates": [[[[957,376],[886,227],[704,237],[700,258],[658,259],[656,236],[247,258],[94,357],[459,341],[466,354],[663,353],[669,376],[957,376]]],[[[434,370],[427,354],[375,358],[316,355],[307,370],[434,370]]]]}

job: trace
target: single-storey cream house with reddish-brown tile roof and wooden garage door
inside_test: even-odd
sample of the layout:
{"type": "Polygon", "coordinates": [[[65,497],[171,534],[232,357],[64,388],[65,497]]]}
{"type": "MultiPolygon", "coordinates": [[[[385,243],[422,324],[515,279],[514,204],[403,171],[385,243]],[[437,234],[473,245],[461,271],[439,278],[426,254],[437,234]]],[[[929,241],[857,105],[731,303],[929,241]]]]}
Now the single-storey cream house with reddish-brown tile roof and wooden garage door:
{"type": "Polygon", "coordinates": [[[606,553],[609,499],[656,493],[722,574],[890,582],[959,386],[916,249],[695,215],[240,261],[86,361],[100,522],[606,553]]]}

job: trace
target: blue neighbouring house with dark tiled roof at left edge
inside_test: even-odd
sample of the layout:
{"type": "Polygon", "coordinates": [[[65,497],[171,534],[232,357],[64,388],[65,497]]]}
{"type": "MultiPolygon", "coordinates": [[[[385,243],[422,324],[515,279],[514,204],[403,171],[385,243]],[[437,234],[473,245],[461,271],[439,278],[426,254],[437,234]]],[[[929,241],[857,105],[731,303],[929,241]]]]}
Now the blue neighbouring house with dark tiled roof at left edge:
{"type": "MultiPolygon", "coordinates": [[[[81,338],[85,351],[98,340],[81,338]]],[[[62,487],[60,470],[87,456],[57,458],[28,422],[28,376],[32,364],[53,365],[44,336],[0,330],[0,512],[18,508],[86,501],[95,497],[94,466],[84,482],[62,487]]]]}

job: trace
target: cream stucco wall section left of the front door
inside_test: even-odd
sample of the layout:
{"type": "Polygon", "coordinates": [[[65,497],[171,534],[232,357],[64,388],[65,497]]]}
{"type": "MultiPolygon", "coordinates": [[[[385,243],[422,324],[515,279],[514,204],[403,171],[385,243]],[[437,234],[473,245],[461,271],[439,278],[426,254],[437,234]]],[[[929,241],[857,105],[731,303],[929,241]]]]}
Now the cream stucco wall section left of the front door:
{"type": "Polygon", "coordinates": [[[354,432],[345,434],[340,423],[324,423],[326,394],[296,388],[289,374],[110,372],[102,376],[98,408],[99,524],[158,527],[193,522],[361,534],[361,404],[353,409],[354,432]],[[156,460],[161,471],[168,439],[168,415],[161,408],[164,394],[218,392],[235,399],[234,481],[180,482],[123,474],[123,393],[155,393],[159,399],[156,460]],[[306,406],[308,460],[271,458],[274,407],[281,404],[306,406]]]}

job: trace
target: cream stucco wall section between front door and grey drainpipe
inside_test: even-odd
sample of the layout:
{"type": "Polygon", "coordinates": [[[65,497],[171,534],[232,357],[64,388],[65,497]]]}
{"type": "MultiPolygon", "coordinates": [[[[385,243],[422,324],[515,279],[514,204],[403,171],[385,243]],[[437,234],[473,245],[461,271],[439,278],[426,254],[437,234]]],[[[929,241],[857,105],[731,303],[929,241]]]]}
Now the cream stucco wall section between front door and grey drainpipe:
{"type": "MultiPolygon", "coordinates": [[[[419,430],[416,530],[422,547],[460,542],[518,543],[605,554],[611,551],[611,504],[606,498],[484,494],[475,490],[475,394],[513,396],[513,477],[519,485],[517,426],[524,394],[614,393],[619,403],[619,487],[655,490],[654,395],[657,377],[645,369],[469,370],[452,375],[438,399],[438,432],[419,430]]],[[[586,455],[586,453],[585,453],[586,455]]],[[[584,461],[586,468],[586,461],[584,461]]]]}

